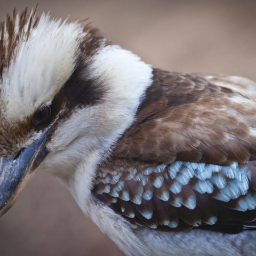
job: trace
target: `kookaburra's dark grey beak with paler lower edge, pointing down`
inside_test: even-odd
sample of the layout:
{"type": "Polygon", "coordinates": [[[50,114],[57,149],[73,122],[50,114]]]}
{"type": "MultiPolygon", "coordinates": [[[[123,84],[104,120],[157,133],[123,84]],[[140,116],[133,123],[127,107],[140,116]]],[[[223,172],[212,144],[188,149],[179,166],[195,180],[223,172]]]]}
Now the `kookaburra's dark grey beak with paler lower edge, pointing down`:
{"type": "Polygon", "coordinates": [[[48,130],[44,131],[33,145],[22,148],[13,159],[0,158],[0,216],[12,207],[47,155],[47,134],[48,130]]]}

